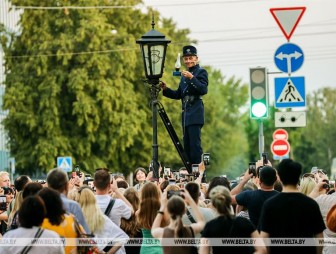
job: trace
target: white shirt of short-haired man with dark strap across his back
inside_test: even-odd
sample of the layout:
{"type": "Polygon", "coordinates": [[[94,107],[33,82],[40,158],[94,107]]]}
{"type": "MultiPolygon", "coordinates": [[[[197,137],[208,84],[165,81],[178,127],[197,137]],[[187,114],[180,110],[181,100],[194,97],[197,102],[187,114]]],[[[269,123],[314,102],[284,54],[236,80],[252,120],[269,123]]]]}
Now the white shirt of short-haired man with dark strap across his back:
{"type": "MultiPolygon", "coordinates": [[[[111,196],[106,195],[96,195],[97,204],[100,207],[101,211],[105,214],[105,210],[110,203],[111,196]]],[[[116,199],[112,210],[108,217],[120,227],[121,218],[128,220],[132,215],[132,209],[121,199],[116,199]]]]}

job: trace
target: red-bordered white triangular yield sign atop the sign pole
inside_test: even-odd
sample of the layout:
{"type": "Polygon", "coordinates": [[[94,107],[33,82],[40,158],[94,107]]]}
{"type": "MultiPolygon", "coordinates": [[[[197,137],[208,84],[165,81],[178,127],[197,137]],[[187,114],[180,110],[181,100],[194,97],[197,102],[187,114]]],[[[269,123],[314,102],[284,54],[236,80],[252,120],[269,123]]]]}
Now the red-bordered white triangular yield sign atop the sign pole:
{"type": "Polygon", "coordinates": [[[306,11],[306,7],[271,8],[270,11],[289,41],[303,13],[306,11]]]}

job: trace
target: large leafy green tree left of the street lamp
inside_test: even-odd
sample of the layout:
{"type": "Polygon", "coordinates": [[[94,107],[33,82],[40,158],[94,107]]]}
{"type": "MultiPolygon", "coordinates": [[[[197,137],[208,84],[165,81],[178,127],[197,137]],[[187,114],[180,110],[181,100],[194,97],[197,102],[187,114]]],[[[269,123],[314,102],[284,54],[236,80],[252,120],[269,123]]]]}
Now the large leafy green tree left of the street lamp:
{"type": "MultiPolygon", "coordinates": [[[[111,5],[97,0],[71,2],[84,4],[111,5]]],[[[132,8],[23,12],[21,33],[3,45],[4,107],[9,110],[4,124],[19,168],[50,169],[60,155],[72,156],[86,169],[107,165],[118,169],[125,161],[135,164],[128,156],[137,153],[126,151],[138,143],[148,118],[138,107],[143,94],[137,93],[135,82],[141,64],[135,40],[146,30],[145,21],[146,16],[132,8]]]]}

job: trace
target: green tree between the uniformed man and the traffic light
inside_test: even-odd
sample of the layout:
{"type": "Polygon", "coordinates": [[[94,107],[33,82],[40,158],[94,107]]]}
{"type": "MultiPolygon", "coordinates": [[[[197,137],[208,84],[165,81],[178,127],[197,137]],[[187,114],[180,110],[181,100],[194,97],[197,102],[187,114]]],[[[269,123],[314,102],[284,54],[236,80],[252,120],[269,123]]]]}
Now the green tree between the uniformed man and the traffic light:
{"type": "Polygon", "coordinates": [[[242,121],[247,86],[241,80],[209,70],[209,92],[204,96],[206,124],[202,131],[203,150],[211,153],[208,175],[238,176],[246,168],[247,139],[242,121]]]}

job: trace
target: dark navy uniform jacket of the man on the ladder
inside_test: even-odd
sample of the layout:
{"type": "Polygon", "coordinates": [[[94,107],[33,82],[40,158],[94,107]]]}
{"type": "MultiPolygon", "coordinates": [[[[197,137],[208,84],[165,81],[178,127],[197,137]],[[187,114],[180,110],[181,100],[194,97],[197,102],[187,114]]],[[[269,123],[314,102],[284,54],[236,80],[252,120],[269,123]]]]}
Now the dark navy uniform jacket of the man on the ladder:
{"type": "Polygon", "coordinates": [[[182,100],[182,125],[204,124],[204,105],[202,95],[208,92],[208,72],[198,64],[189,69],[192,79],[181,77],[177,90],[167,88],[163,95],[182,100]],[[186,114],[185,114],[186,113],[186,114]]]}

